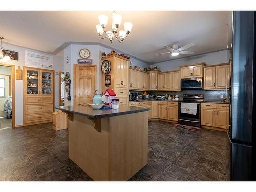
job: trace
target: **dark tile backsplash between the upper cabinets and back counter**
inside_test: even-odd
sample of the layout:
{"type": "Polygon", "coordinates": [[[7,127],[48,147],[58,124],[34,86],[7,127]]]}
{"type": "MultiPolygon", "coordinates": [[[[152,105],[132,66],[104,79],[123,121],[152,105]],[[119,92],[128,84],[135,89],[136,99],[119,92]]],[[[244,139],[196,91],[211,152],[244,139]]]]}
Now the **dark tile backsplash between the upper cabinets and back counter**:
{"type": "MultiPolygon", "coordinates": [[[[138,92],[143,93],[143,91],[130,91],[131,93],[138,92]]],[[[183,94],[204,94],[205,100],[223,100],[223,98],[229,98],[229,90],[183,90],[183,91],[147,91],[149,94],[155,95],[178,95],[179,98],[183,97],[183,94]],[[223,98],[221,98],[223,95],[223,98]]]]}

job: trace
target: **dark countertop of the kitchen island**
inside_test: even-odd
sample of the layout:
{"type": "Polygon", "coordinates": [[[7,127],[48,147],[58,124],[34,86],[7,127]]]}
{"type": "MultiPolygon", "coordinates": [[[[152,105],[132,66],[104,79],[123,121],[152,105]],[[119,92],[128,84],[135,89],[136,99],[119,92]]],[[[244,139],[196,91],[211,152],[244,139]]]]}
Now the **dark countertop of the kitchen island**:
{"type": "Polygon", "coordinates": [[[90,118],[113,117],[117,115],[126,115],[150,110],[149,108],[136,108],[134,106],[119,105],[119,109],[94,110],[90,106],[57,106],[56,109],[84,115],[90,118]]]}

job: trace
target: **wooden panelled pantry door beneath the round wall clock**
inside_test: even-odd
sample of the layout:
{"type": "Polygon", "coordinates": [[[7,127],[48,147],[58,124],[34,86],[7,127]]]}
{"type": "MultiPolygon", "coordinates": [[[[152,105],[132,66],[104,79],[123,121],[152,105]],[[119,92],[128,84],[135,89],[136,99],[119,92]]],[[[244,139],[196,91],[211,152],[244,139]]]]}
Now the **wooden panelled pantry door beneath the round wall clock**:
{"type": "Polygon", "coordinates": [[[92,103],[94,91],[96,90],[96,66],[74,66],[75,67],[75,103],[74,105],[92,103]]]}

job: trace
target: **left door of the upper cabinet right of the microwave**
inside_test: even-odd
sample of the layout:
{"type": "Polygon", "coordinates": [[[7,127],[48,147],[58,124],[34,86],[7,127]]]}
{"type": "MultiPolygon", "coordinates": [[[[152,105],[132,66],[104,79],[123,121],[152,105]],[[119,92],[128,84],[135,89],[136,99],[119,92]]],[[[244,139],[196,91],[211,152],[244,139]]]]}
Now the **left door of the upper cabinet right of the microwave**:
{"type": "Polygon", "coordinates": [[[204,68],[204,89],[215,89],[215,66],[204,68]]]}

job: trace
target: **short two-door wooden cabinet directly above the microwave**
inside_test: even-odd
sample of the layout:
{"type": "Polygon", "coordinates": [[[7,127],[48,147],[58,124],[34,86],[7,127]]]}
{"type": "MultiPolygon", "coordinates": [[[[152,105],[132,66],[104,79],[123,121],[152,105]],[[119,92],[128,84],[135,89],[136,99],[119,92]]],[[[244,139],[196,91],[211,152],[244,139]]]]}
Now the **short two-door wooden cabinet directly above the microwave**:
{"type": "Polygon", "coordinates": [[[193,78],[193,77],[203,77],[204,63],[198,63],[191,66],[181,66],[180,73],[181,79],[193,78]]]}

